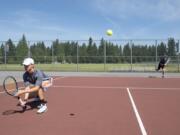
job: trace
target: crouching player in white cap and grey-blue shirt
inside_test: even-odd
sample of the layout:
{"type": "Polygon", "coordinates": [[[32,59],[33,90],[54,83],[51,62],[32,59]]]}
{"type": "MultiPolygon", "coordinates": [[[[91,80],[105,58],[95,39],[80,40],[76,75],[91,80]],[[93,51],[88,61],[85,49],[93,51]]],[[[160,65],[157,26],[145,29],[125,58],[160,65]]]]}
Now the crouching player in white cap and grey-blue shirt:
{"type": "Polygon", "coordinates": [[[32,58],[24,59],[23,63],[25,73],[23,74],[23,80],[25,90],[20,90],[16,96],[21,97],[25,95],[24,100],[19,99],[20,105],[25,106],[30,95],[34,95],[39,98],[41,105],[37,113],[43,113],[47,111],[46,100],[44,97],[44,91],[47,87],[52,85],[52,78],[49,78],[44,72],[35,69],[34,60],[32,58]]]}

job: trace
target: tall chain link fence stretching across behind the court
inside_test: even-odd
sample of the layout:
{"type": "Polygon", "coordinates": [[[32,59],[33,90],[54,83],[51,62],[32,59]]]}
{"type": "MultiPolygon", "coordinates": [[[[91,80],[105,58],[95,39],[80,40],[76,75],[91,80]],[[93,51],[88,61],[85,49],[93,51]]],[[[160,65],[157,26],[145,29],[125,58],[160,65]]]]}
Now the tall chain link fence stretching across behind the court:
{"type": "Polygon", "coordinates": [[[179,72],[179,40],[77,40],[0,42],[0,70],[23,70],[32,57],[47,71],[155,71],[160,57],[171,58],[169,72],[179,72]],[[172,44],[172,45],[171,45],[172,44]],[[170,47],[174,46],[171,53],[170,47]],[[172,55],[169,55],[172,54],[172,55]]]}

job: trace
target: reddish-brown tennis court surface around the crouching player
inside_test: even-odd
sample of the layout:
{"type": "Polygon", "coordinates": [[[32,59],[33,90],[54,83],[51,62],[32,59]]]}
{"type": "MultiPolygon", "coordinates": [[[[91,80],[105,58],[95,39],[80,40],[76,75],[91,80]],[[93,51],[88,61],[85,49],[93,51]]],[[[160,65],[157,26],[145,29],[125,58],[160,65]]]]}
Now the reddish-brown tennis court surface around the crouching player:
{"type": "Polygon", "coordinates": [[[178,78],[58,77],[48,111],[0,92],[0,135],[178,135],[178,78]]]}

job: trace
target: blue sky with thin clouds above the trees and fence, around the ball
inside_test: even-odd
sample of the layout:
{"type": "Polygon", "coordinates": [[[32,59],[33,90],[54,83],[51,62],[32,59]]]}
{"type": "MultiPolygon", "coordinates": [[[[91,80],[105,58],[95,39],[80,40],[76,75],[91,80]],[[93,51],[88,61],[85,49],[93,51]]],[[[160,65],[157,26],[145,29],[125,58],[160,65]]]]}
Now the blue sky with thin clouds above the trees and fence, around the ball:
{"type": "Polygon", "coordinates": [[[0,40],[23,34],[27,40],[180,38],[180,1],[0,0],[0,40]]]}

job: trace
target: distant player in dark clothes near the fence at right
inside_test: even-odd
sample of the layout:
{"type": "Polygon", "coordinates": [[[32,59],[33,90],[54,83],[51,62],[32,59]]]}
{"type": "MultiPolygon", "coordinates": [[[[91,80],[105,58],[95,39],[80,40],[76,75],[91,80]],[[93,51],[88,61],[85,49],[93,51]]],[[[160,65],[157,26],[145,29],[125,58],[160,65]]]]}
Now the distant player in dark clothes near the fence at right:
{"type": "Polygon", "coordinates": [[[159,71],[159,70],[162,71],[162,78],[164,78],[165,66],[168,64],[169,60],[170,59],[166,55],[164,55],[160,58],[158,68],[156,69],[156,71],[159,71]]]}

